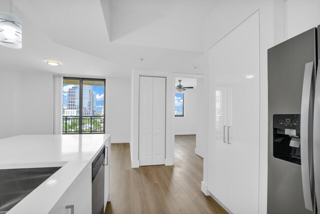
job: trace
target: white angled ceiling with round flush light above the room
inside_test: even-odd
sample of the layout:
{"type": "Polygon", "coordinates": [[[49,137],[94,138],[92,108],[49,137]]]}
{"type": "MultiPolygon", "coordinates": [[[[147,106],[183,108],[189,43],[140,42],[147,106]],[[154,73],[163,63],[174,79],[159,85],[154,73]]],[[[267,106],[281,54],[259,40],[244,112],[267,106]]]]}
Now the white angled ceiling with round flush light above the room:
{"type": "MultiPolygon", "coordinates": [[[[203,20],[219,1],[13,0],[22,48],[0,46],[0,69],[106,77],[129,77],[132,69],[202,73],[193,65],[203,63],[203,20]]],[[[8,5],[0,1],[3,11],[8,5]]]]}

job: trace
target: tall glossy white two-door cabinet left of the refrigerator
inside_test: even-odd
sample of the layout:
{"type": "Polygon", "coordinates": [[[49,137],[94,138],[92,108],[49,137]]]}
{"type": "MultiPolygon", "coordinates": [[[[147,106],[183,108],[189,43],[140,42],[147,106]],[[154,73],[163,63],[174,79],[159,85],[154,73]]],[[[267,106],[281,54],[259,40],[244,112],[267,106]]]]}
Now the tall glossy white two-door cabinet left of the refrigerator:
{"type": "Polygon", "coordinates": [[[208,60],[208,190],[233,213],[258,213],[258,12],[213,45],[208,60]]]}

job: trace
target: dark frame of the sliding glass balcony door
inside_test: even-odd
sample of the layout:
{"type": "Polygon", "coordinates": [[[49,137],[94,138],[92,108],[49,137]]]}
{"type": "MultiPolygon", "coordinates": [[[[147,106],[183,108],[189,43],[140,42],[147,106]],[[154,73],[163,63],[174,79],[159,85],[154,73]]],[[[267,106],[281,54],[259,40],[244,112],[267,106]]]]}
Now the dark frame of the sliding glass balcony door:
{"type": "MultiPolygon", "coordinates": [[[[81,78],[81,77],[69,77],[69,76],[63,76],[63,79],[71,79],[71,80],[79,80],[79,132],[78,133],[64,133],[62,130],[62,134],[104,134],[105,133],[105,79],[100,79],[100,78],[81,78]],[[85,115],[82,115],[82,99],[83,99],[83,81],[103,81],[103,133],[82,133],[82,117],[85,115]]],[[[63,83],[62,83],[63,85],[63,83]]],[[[75,94],[74,94],[74,101],[75,101],[75,94]]],[[[63,102],[62,106],[63,108],[63,102]]],[[[63,115],[62,115],[63,116],[63,115]]],[[[62,124],[63,126],[63,124],[62,124]]]]}

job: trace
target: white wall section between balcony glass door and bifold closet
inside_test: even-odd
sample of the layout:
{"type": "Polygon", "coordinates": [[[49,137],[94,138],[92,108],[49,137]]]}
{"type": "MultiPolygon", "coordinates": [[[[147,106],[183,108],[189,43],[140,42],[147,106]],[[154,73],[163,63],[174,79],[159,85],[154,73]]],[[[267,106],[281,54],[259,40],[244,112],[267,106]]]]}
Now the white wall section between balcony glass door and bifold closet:
{"type": "Polygon", "coordinates": [[[130,141],[130,78],[105,80],[105,132],[111,143],[130,141]]]}

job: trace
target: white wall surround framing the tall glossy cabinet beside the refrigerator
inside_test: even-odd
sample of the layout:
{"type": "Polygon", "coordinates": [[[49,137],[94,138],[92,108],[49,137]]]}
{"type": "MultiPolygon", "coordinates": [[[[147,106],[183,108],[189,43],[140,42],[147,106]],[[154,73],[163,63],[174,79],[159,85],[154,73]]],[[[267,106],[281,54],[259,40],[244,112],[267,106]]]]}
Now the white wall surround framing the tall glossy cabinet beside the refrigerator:
{"type": "MultiPolygon", "coordinates": [[[[260,151],[259,151],[259,213],[266,213],[267,199],[267,48],[273,46],[273,0],[223,0],[205,20],[204,56],[208,61],[208,49],[243,22],[255,11],[259,11],[260,37],[260,151]]],[[[238,54],[243,54],[239,52],[238,54]]],[[[204,64],[204,107],[208,112],[208,69],[204,64]]],[[[208,147],[208,123],[204,147],[208,147]]],[[[207,149],[205,150],[207,151],[207,149]]],[[[203,154],[203,181],[201,190],[207,191],[207,152],[203,154]]]]}

